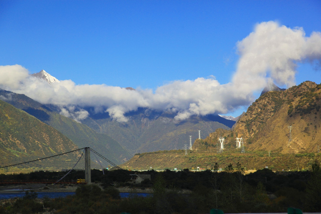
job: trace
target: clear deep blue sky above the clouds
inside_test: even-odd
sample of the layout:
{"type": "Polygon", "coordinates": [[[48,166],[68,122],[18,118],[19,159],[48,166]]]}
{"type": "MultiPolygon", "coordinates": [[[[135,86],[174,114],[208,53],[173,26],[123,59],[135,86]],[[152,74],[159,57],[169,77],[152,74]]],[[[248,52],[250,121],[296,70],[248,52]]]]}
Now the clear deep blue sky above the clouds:
{"type": "MultiPolygon", "coordinates": [[[[310,36],[321,31],[321,1],[0,0],[0,65],[153,91],[211,75],[226,84],[239,60],[237,42],[264,21],[310,36]]],[[[296,83],[320,83],[315,67],[300,63],[296,83]]]]}

